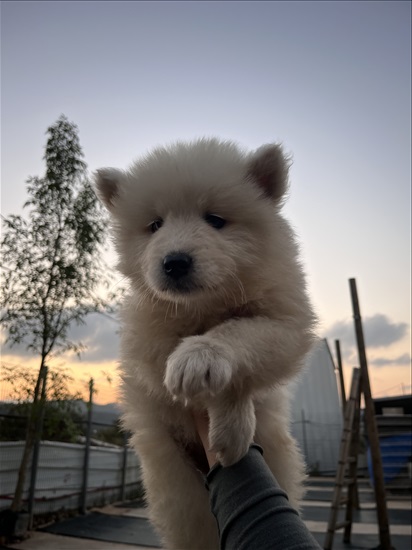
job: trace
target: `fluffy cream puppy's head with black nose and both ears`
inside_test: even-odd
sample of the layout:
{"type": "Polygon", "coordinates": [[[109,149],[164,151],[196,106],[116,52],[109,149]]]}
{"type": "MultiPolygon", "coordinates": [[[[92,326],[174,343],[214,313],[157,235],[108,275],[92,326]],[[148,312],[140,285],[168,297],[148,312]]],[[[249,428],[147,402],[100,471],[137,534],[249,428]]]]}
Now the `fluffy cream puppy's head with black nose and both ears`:
{"type": "Polygon", "coordinates": [[[287,180],[279,145],[247,154],[203,139],[158,148],[127,172],[101,169],[95,187],[136,290],[237,306],[265,271],[287,180]]]}

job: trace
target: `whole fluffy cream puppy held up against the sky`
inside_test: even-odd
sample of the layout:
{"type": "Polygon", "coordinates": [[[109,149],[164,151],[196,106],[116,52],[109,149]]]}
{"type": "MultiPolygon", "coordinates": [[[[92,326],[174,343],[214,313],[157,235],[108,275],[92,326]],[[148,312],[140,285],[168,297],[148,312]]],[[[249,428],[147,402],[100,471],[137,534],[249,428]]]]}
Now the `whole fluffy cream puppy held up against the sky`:
{"type": "Polygon", "coordinates": [[[246,153],[201,139],[96,176],[131,288],[121,333],[124,424],[168,549],[218,548],[193,408],[208,410],[223,465],[253,440],[294,506],[302,495],[285,383],[302,366],[315,318],[280,214],[288,168],[280,145],[246,153]]]}

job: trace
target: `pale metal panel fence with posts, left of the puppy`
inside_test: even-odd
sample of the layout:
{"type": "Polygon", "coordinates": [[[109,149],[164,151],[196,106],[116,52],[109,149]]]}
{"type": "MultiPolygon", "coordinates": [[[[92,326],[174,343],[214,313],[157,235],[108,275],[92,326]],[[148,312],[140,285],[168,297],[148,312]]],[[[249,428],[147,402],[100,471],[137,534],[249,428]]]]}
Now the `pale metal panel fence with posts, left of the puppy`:
{"type": "MultiPolygon", "coordinates": [[[[19,426],[27,417],[0,414],[4,434],[19,426]]],[[[42,440],[33,449],[25,472],[22,510],[36,515],[69,510],[85,512],[92,506],[134,498],[141,494],[140,469],[135,453],[127,446],[112,445],[94,439],[113,424],[85,420],[79,443],[42,440]],[[89,429],[88,429],[89,427],[89,429]],[[89,437],[87,437],[89,435],[89,437]]],[[[0,510],[10,508],[22,460],[24,441],[0,441],[0,510]]]]}

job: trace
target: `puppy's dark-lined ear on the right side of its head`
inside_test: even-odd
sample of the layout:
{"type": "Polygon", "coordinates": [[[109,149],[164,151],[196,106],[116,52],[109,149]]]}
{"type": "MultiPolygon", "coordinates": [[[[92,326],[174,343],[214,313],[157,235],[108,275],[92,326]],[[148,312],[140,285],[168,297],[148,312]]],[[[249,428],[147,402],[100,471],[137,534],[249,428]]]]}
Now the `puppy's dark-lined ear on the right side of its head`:
{"type": "Polygon", "coordinates": [[[252,155],[247,176],[267,197],[279,202],[288,188],[289,167],[290,159],[283,153],[281,145],[263,145],[252,155]]]}

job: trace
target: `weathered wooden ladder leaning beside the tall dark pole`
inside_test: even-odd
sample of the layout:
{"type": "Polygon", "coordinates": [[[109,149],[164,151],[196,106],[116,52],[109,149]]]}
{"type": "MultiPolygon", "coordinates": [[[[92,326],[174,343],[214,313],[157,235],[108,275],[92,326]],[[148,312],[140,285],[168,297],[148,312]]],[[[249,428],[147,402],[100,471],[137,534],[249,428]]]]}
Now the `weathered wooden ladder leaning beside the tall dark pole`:
{"type": "Polygon", "coordinates": [[[345,407],[344,427],[340,443],[339,462],[329,514],[328,530],[323,546],[325,550],[332,549],[333,537],[335,531],[338,529],[345,529],[343,540],[344,542],[350,542],[353,508],[359,506],[357,468],[361,396],[360,379],[360,369],[353,369],[350,397],[345,407]],[[347,487],[347,494],[342,498],[342,492],[345,487],[347,487]],[[346,504],[345,520],[338,522],[339,510],[343,504],[346,504]]]}

